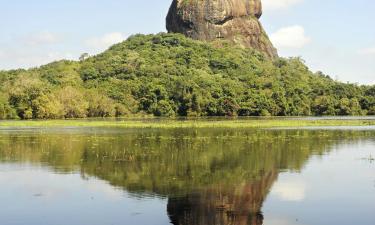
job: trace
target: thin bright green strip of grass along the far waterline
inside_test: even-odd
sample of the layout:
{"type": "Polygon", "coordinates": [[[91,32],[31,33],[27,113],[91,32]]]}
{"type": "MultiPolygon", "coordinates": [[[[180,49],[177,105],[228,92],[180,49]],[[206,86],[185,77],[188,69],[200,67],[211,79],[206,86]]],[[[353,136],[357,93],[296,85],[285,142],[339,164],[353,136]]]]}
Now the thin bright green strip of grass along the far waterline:
{"type": "Polygon", "coordinates": [[[296,128],[335,126],[374,126],[371,119],[233,119],[233,120],[41,120],[0,121],[5,128],[68,128],[68,127],[116,127],[116,128],[296,128]]]}

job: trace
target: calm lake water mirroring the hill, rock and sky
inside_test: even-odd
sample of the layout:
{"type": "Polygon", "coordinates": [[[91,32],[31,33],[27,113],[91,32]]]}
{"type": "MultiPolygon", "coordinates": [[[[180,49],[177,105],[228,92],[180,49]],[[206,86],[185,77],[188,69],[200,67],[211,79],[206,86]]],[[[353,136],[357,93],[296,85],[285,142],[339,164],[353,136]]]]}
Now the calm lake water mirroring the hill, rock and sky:
{"type": "Polygon", "coordinates": [[[375,129],[0,130],[2,225],[375,224],[375,129]]]}

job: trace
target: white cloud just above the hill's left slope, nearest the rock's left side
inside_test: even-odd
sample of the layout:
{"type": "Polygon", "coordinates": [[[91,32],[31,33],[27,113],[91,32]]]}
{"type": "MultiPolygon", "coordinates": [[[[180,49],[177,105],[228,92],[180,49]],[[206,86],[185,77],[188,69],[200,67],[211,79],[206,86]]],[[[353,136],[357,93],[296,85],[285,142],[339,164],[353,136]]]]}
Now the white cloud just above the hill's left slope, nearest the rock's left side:
{"type": "Polygon", "coordinates": [[[94,51],[102,51],[111,45],[122,42],[126,39],[126,36],[120,32],[113,32],[105,34],[102,37],[91,38],[86,41],[86,45],[94,51]]]}

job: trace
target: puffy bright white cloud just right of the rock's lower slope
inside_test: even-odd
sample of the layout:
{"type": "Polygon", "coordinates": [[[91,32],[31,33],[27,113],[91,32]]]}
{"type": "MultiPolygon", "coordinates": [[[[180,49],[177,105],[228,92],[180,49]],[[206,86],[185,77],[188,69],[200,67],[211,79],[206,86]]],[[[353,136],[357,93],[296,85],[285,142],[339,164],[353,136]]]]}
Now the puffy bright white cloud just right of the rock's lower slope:
{"type": "Polygon", "coordinates": [[[271,34],[270,38],[276,48],[280,49],[302,48],[311,41],[306,36],[305,29],[299,25],[283,27],[271,34]]]}

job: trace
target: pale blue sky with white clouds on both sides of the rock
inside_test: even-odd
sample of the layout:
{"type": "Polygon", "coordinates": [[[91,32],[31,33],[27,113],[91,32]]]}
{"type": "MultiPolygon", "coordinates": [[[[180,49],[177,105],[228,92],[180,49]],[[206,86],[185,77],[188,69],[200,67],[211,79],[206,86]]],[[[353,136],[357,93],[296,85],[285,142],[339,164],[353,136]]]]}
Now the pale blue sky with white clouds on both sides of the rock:
{"type": "MultiPolygon", "coordinates": [[[[172,0],[0,0],[0,70],[96,54],[132,34],[165,32],[172,0]]],[[[283,57],[375,84],[374,0],[262,0],[261,22],[283,57]]]]}

